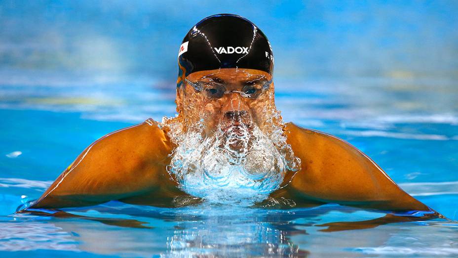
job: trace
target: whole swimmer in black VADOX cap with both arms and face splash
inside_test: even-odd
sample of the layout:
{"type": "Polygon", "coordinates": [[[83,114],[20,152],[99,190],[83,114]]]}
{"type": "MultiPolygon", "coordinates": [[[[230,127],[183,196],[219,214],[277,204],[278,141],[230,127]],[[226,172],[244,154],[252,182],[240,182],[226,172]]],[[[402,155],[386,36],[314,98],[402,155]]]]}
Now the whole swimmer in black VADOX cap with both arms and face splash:
{"type": "Polygon", "coordinates": [[[178,115],[98,139],[27,210],[272,198],[438,216],[349,143],[283,123],[273,65],[270,43],[252,22],[203,19],[178,51],[178,115]]]}

